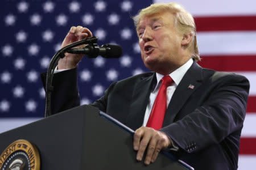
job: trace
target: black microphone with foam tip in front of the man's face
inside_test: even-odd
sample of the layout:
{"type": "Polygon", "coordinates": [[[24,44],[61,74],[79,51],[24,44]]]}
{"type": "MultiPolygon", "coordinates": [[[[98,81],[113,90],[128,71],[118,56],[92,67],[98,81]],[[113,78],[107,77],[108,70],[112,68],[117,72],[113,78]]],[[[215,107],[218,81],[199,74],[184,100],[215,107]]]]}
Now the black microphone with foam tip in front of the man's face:
{"type": "Polygon", "coordinates": [[[90,58],[102,56],[104,58],[119,58],[122,56],[122,48],[119,45],[105,44],[101,47],[98,44],[88,44],[84,48],[72,48],[67,50],[72,54],[86,54],[90,58]]]}

